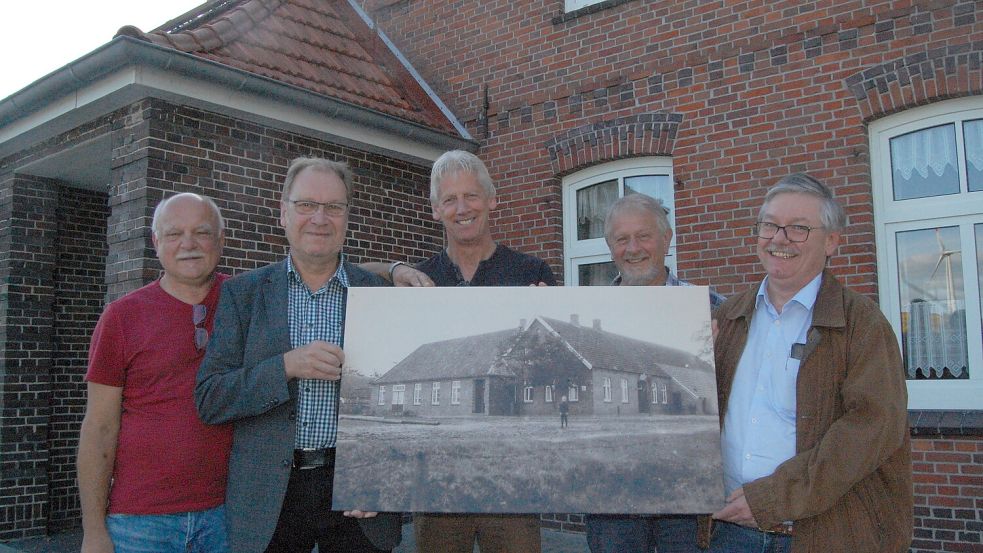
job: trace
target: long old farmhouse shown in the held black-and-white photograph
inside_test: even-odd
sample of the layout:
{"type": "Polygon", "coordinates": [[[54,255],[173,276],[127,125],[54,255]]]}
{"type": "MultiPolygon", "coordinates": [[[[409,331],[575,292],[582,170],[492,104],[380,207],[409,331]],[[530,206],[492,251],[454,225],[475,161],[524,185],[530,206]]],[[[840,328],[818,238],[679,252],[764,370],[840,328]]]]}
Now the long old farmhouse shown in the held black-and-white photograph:
{"type": "Polygon", "coordinates": [[[628,338],[594,319],[548,317],[424,344],[375,381],[377,415],[461,417],[716,413],[713,367],[676,348],[628,338]]]}

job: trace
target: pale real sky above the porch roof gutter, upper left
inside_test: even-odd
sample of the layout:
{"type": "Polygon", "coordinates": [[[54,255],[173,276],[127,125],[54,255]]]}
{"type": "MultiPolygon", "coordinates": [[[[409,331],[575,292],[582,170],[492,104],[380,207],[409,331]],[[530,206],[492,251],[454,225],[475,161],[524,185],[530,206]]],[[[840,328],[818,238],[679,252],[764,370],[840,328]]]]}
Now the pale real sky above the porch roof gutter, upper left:
{"type": "Polygon", "coordinates": [[[202,0],[5,0],[0,99],[88,54],[124,25],[147,32],[202,0]]]}

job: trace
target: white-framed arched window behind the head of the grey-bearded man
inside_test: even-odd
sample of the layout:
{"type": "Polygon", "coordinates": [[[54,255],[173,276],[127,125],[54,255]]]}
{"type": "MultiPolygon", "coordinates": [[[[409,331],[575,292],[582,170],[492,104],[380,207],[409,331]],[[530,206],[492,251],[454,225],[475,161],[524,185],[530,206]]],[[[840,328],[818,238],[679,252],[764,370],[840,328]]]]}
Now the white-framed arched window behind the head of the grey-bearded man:
{"type": "MultiPolygon", "coordinates": [[[[672,159],[644,157],[613,161],[563,178],[563,251],[567,286],[607,286],[618,275],[604,241],[604,217],[625,194],[642,193],[662,200],[675,231],[672,159]]],[[[676,237],[666,253],[676,270],[676,237]]]]}

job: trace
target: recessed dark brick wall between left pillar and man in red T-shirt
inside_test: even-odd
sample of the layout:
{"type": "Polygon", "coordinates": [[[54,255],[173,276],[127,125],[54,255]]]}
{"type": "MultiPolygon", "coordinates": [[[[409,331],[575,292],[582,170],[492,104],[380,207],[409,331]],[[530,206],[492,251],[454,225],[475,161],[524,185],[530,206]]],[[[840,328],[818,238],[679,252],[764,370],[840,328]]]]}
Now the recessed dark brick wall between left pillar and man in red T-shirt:
{"type": "Polygon", "coordinates": [[[107,195],[58,187],[54,274],[54,352],[48,424],[49,530],[73,527],[81,511],[75,478],[79,426],[85,414],[89,339],[106,297],[107,195]]]}

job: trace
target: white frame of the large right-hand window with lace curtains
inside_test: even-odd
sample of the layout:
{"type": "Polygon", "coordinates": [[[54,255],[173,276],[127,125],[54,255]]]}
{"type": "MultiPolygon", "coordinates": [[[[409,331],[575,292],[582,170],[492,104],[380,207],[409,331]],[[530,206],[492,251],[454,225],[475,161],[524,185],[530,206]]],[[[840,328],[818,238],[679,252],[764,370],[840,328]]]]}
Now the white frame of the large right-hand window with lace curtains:
{"type": "Polygon", "coordinates": [[[908,380],[910,409],[983,408],[983,346],[979,336],[980,275],[976,272],[974,226],[983,224],[983,191],[967,192],[966,158],[960,121],[983,119],[983,97],[938,102],[906,110],[870,125],[871,176],[877,244],[877,279],[881,311],[894,327],[901,347],[901,305],[898,285],[899,232],[958,226],[963,266],[963,297],[969,379],[908,380]],[[890,139],[910,132],[956,123],[960,193],[895,201],[891,182],[890,139]],[[972,252],[973,257],[967,255],[972,252]]]}

